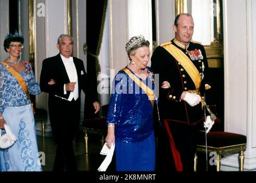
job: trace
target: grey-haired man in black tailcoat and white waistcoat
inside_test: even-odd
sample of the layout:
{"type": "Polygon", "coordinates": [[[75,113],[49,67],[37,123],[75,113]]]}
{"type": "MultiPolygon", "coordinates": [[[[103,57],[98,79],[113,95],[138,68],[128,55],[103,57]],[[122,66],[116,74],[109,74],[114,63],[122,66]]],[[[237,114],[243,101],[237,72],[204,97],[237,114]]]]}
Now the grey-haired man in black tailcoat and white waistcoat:
{"type": "Polygon", "coordinates": [[[76,171],[72,141],[79,129],[81,90],[91,99],[95,113],[100,104],[97,94],[92,92],[83,61],[71,56],[73,38],[61,34],[57,39],[57,49],[59,54],[42,62],[40,87],[42,92],[49,93],[49,118],[57,145],[53,170],[76,171]]]}

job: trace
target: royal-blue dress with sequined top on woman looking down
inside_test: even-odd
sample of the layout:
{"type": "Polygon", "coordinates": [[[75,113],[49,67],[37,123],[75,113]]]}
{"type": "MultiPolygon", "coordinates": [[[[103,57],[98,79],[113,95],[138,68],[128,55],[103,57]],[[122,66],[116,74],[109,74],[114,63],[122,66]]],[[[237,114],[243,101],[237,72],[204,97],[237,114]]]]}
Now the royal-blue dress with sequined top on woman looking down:
{"type": "MultiPolygon", "coordinates": [[[[139,79],[154,90],[153,74],[149,67],[147,69],[148,78],[139,79]]],[[[153,106],[147,94],[125,71],[121,70],[115,75],[114,83],[107,123],[115,124],[116,168],[118,171],[153,171],[153,106]]]]}

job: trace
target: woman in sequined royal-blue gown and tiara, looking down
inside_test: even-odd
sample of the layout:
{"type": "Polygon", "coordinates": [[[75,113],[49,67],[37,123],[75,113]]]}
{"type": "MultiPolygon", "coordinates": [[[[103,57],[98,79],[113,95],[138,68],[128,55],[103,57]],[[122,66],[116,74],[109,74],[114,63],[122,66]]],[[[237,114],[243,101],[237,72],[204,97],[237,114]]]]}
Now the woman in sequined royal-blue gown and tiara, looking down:
{"type": "Polygon", "coordinates": [[[153,73],[147,67],[149,42],[142,35],[135,36],[127,42],[126,51],[130,63],[115,75],[108,106],[106,142],[108,147],[115,143],[117,171],[154,171],[154,97],[150,101],[145,90],[127,74],[154,91],[153,73]]]}

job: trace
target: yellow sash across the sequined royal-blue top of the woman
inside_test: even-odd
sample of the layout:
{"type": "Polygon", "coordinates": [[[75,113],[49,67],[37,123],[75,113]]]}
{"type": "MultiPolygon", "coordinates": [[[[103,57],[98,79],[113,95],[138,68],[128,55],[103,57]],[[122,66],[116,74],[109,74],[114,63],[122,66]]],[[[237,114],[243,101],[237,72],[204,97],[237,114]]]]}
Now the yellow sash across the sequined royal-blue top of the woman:
{"type": "Polygon", "coordinates": [[[149,97],[149,100],[152,104],[152,106],[154,106],[154,99],[155,99],[155,95],[154,92],[152,91],[152,89],[150,89],[148,86],[146,86],[141,80],[139,80],[133,73],[131,73],[131,71],[127,68],[123,68],[121,69],[123,71],[125,71],[126,74],[129,75],[129,77],[131,79],[133,79],[133,81],[135,83],[137,83],[137,85],[139,87],[141,87],[141,89],[147,94],[147,96],[149,97]]]}

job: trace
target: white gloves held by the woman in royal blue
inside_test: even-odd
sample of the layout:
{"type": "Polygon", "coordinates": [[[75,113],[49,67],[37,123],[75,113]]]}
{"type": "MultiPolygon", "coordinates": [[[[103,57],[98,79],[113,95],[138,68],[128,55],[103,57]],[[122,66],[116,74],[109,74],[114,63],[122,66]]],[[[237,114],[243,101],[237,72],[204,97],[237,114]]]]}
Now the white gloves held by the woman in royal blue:
{"type": "Polygon", "coordinates": [[[100,154],[106,155],[106,158],[103,160],[102,164],[99,166],[98,168],[99,172],[106,172],[108,166],[110,165],[110,162],[112,161],[114,150],[115,150],[115,145],[113,143],[111,143],[111,148],[108,148],[107,143],[105,142],[102,150],[100,151],[100,154]]]}

